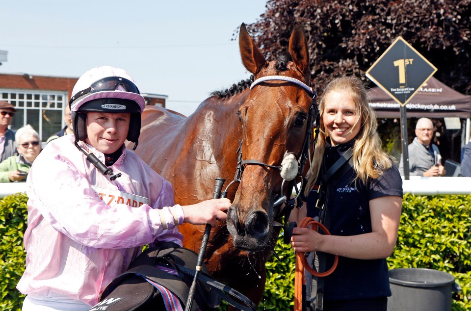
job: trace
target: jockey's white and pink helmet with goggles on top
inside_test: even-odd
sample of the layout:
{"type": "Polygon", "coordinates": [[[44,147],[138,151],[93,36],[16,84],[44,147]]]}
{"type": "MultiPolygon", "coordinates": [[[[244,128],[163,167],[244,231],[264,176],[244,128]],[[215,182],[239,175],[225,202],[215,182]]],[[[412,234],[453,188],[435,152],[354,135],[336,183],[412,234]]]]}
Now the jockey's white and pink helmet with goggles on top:
{"type": "Polygon", "coordinates": [[[130,112],[127,139],[137,142],[145,100],[134,79],[125,70],[111,66],[90,69],[75,84],[69,105],[77,141],[87,138],[86,112],[104,111],[130,112]]]}

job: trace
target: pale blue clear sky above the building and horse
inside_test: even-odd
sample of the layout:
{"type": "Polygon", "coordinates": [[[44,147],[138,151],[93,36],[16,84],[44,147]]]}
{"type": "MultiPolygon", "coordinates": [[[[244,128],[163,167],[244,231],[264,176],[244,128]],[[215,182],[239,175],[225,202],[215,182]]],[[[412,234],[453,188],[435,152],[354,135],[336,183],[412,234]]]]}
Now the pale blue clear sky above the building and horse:
{"type": "Polygon", "coordinates": [[[111,65],[141,93],[191,114],[215,90],[250,77],[235,32],[266,0],[1,1],[1,74],[78,78],[111,65]],[[47,3],[47,5],[45,4],[47,3]]]}

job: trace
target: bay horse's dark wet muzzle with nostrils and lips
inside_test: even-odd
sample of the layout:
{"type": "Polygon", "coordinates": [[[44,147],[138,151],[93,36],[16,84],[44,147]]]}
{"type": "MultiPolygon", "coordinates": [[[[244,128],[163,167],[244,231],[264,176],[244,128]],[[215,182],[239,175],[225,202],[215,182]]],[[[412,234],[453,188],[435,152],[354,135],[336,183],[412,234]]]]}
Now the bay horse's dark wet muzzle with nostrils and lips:
{"type": "Polygon", "coordinates": [[[231,206],[226,219],[227,229],[234,238],[234,246],[250,252],[263,250],[269,233],[268,215],[264,210],[256,210],[247,211],[245,217],[241,217],[238,210],[237,206],[231,206]]]}

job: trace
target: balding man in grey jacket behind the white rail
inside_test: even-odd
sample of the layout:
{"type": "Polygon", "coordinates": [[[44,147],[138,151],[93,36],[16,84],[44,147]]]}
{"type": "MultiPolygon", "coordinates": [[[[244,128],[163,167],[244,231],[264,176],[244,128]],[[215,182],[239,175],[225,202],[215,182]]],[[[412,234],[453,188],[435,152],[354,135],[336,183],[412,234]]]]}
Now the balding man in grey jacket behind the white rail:
{"type": "MultiPolygon", "coordinates": [[[[427,118],[420,118],[416,124],[416,137],[409,144],[409,173],[410,176],[444,176],[445,167],[438,146],[432,143],[433,123],[427,118]]],[[[399,172],[404,176],[403,159],[399,162],[399,172]]]]}

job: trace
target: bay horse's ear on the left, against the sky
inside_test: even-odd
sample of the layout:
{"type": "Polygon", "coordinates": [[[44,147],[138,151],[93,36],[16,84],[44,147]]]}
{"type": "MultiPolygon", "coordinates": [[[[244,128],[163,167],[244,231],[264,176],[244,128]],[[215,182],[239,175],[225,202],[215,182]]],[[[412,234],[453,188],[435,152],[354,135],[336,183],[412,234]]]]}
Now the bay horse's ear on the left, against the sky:
{"type": "Polygon", "coordinates": [[[254,42],[252,41],[247,28],[245,28],[244,23],[240,25],[239,49],[240,56],[242,57],[242,63],[252,74],[255,75],[260,70],[262,70],[263,66],[267,64],[265,57],[263,57],[262,53],[254,45],[254,42]]]}

